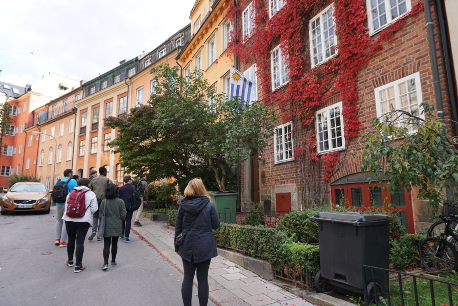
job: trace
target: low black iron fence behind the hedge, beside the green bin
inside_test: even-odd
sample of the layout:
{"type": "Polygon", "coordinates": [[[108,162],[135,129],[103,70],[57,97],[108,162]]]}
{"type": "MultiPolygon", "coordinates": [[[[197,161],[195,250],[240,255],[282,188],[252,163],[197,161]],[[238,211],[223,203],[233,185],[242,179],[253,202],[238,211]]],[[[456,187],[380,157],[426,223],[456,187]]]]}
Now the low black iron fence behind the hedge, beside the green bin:
{"type": "Polygon", "coordinates": [[[236,223],[239,225],[267,225],[274,228],[281,216],[290,211],[238,211],[218,212],[221,222],[236,223]]]}

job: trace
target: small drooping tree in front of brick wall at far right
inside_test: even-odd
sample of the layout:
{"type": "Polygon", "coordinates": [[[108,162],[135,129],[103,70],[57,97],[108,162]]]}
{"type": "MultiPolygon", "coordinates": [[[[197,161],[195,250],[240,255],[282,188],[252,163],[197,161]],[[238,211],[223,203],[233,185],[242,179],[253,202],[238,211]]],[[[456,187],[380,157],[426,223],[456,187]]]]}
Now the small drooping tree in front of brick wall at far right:
{"type": "MultiPolygon", "coordinates": [[[[437,211],[448,184],[458,184],[457,139],[447,133],[446,121],[423,103],[425,119],[401,110],[374,119],[371,131],[362,136],[361,171],[369,172],[393,193],[399,187],[418,187],[418,196],[430,200],[437,211]]],[[[456,188],[453,189],[456,194],[456,188]]]]}

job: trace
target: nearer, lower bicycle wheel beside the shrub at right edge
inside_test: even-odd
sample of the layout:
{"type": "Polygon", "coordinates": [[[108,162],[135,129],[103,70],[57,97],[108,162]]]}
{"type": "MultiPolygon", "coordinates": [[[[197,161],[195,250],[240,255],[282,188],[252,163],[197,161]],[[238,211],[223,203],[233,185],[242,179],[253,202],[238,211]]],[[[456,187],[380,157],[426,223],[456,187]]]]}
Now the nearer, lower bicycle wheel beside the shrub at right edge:
{"type": "Polygon", "coordinates": [[[421,264],[429,272],[450,272],[458,268],[458,253],[445,239],[429,237],[420,244],[421,264]]]}

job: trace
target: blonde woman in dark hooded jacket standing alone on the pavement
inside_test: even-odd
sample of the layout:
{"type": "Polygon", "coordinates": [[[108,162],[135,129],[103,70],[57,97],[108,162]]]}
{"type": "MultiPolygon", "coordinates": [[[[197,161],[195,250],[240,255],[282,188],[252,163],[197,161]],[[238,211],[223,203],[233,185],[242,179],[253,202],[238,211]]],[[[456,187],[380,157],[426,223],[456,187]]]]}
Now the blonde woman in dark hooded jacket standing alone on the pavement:
{"type": "Polygon", "coordinates": [[[212,229],[219,217],[201,178],[192,178],[185,189],[175,222],[175,252],[180,254],[185,273],[181,284],[184,306],[191,306],[192,281],[197,271],[199,306],[208,303],[208,268],[218,256],[212,229]]]}

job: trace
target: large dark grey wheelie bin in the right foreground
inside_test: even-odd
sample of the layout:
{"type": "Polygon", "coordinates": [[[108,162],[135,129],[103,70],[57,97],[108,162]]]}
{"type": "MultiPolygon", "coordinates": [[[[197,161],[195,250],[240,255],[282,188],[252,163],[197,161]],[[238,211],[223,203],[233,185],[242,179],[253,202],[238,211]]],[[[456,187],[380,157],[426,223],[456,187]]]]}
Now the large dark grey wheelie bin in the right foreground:
{"type": "Polygon", "coordinates": [[[312,219],[318,221],[320,244],[321,270],[316,274],[317,290],[323,291],[331,286],[341,293],[364,295],[367,289],[373,295],[375,285],[377,295],[386,297],[386,273],[375,270],[374,284],[371,269],[365,269],[364,277],[361,265],[389,268],[391,218],[347,211],[320,212],[312,219]]]}

